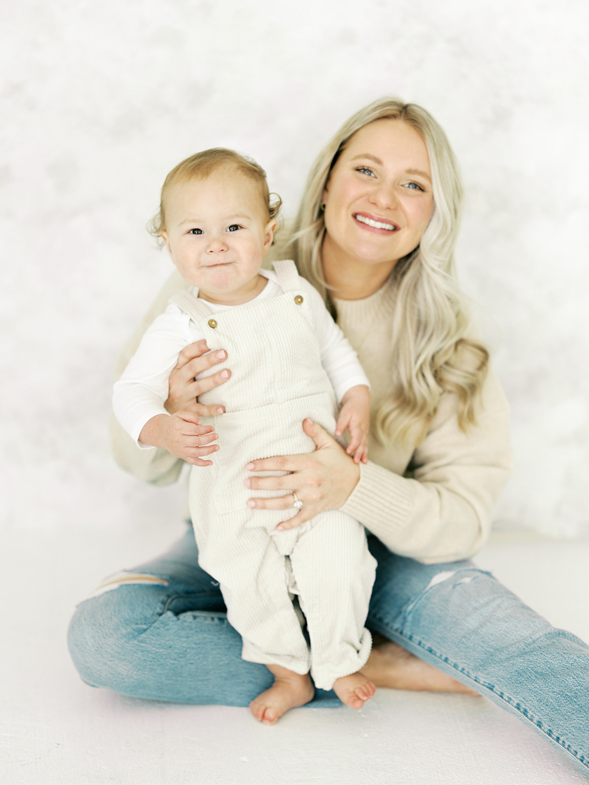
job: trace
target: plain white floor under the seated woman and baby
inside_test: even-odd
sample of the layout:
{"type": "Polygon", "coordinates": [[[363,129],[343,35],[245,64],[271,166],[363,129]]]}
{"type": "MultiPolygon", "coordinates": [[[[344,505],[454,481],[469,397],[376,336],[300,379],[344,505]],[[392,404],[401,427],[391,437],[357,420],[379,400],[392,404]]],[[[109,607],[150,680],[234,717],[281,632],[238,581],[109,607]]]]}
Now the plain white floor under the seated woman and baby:
{"type": "MultiPolygon", "coordinates": [[[[2,535],[0,782],[6,785],[585,785],[485,699],[380,690],[360,712],[298,709],[265,728],[246,709],[188,707],[82,684],[65,632],[75,602],[181,531],[2,535]]],[[[477,559],[589,640],[589,542],[496,538],[477,559]]],[[[587,720],[589,725],[589,718],[587,720]]]]}

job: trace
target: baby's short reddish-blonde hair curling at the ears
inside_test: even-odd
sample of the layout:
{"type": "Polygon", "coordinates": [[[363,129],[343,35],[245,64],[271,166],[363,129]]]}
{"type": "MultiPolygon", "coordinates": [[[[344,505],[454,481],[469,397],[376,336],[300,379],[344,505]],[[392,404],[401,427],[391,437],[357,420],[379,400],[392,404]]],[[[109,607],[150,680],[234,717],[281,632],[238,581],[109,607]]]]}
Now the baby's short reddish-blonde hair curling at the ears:
{"type": "Polygon", "coordinates": [[[161,242],[162,232],[166,232],[166,199],[175,185],[194,180],[206,180],[207,177],[220,169],[233,170],[248,177],[258,186],[262,203],[268,210],[269,221],[278,217],[282,199],[278,194],[269,192],[266,173],[262,166],[254,159],[246,158],[235,150],[210,148],[210,150],[203,150],[185,158],[168,173],[163,181],[159,210],[149,221],[148,232],[161,242]]]}

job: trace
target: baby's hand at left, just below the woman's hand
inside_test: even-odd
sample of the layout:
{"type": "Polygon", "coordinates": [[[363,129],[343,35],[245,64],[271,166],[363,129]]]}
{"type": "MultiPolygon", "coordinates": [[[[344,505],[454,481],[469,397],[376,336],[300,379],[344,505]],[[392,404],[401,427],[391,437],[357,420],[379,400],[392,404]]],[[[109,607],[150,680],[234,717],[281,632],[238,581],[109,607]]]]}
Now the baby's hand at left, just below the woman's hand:
{"type": "Polygon", "coordinates": [[[141,429],[139,441],[167,450],[193,466],[212,466],[212,461],[203,461],[200,456],[218,451],[219,445],[211,444],[218,439],[218,434],[213,432],[213,425],[203,425],[196,414],[177,411],[157,414],[148,420],[141,429]]]}

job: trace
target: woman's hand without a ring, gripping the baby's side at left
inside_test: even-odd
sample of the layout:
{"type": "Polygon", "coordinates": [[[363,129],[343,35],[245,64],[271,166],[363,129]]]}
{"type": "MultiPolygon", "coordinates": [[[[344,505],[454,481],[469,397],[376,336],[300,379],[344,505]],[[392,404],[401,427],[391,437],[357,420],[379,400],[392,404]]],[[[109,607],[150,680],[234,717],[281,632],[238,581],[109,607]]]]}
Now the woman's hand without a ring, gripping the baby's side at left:
{"type": "Polygon", "coordinates": [[[188,344],[178,355],[178,361],[174,371],[170,374],[169,395],[164,408],[170,414],[177,411],[190,411],[197,417],[214,417],[216,414],[223,414],[225,408],[222,406],[203,406],[198,403],[196,397],[202,392],[224,384],[231,376],[231,371],[226,368],[204,379],[195,381],[195,376],[202,374],[210,368],[225,360],[227,352],[222,349],[218,352],[210,352],[207,341],[197,341],[188,344]],[[208,353],[207,353],[208,352],[208,353]]]}

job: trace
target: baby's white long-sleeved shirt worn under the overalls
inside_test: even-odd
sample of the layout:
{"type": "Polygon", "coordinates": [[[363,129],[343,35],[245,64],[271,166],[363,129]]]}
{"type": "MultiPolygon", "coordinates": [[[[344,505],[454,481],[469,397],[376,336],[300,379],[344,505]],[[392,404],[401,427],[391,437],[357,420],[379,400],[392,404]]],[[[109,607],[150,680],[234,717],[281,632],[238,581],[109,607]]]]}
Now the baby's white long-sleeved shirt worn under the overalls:
{"type": "MultiPolygon", "coordinates": [[[[283,294],[276,273],[261,269],[260,275],[265,276],[268,283],[255,300],[283,294]]],[[[357,353],[325,309],[320,294],[304,279],[301,285],[309,298],[320,345],[321,364],[335,389],[337,400],[341,401],[350,388],[356,385],[370,386],[370,383],[357,353]]],[[[194,294],[193,288],[190,291],[194,294]]],[[[219,305],[202,299],[201,302],[210,307],[211,313],[240,307],[219,305]]],[[[163,404],[168,397],[168,382],[176,367],[178,354],[188,344],[203,338],[196,323],[174,303],[170,303],[145,332],[137,352],[115,383],[112,398],[115,417],[138,447],[150,449],[149,445],[139,442],[139,434],[145,423],[157,414],[168,414],[163,404]]]]}

